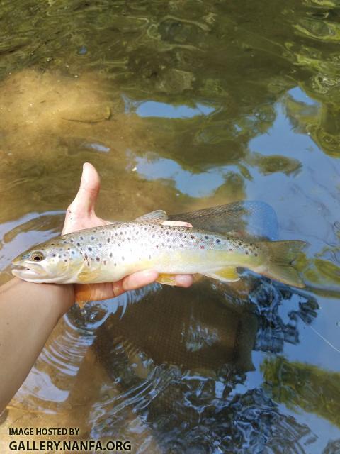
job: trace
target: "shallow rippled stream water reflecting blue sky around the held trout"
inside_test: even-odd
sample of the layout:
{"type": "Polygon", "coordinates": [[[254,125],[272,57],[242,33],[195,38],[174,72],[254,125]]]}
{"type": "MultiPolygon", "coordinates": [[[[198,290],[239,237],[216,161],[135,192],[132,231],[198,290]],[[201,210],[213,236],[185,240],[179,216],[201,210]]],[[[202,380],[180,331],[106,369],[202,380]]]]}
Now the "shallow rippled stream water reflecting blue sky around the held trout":
{"type": "MultiPolygon", "coordinates": [[[[135,453],[340,446],[339,18],[333,0],[0,1],[0,282],[60,232],[84,161],[98,215],[257,199],[310,243],[297,291],[158,285],[75,306],[0,426],[135,453]]],[[[119,215],[118,215],[119,214],[119,215]]]]}

